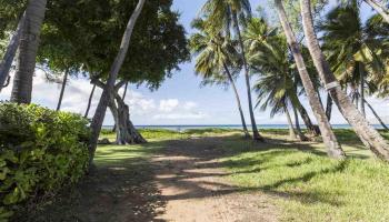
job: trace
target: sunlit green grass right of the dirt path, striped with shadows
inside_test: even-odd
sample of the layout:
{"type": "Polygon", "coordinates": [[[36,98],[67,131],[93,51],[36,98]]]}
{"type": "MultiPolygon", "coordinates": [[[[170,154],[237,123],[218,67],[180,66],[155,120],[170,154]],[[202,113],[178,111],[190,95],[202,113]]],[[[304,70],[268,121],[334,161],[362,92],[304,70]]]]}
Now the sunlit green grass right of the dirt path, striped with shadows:
{"type": "Polygon", "coordinates": [[[221,161],[242,190],[275,196],[285,221],[389,221],[389,165],[351,131],[337,134],[346,161],[328,159],[321,143],[289,142],[279,130],[265,131],[266,145],[227,139],[221,161]]]}

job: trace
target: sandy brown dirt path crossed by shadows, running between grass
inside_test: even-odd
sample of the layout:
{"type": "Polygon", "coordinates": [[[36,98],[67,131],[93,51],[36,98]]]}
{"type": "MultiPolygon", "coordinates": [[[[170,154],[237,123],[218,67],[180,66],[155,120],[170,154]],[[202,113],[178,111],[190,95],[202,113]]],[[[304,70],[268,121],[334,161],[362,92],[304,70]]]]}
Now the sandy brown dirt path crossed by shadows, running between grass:
{"type": "Polygon", "coordinates": [[[156,181],[166,202],[158,221],[277,221],[269,196],[240,192],[223,179],[216,158],[222,138],[173,141],[153,158],[156,181]]]}

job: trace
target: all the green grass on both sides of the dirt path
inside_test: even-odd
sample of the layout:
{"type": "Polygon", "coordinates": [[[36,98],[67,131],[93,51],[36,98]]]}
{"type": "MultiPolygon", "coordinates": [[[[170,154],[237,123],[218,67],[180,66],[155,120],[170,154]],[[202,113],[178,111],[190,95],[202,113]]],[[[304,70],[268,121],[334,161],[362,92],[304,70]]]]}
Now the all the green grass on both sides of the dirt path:
{"type": "MultiPolygon", "coordinates": [[[[22,211],[17,221],[152,221],[161,205],[148,163],[171,140],[225,137],[218,145],[227,180],[245,192],[268,194],[282,221],[389,221],[389,165],[372,158],[350,130],[336,130],[348,154],[346,161],[327,158],[318,142],[288,140],[287,130],[265,130],[268,143],[242,139],[237,130],[141,130],[142,145],[100,145],[97,172],[54,201],[22,211]],[[38,210],[37,210],[38,209],[38,210]],[[29,215],[26,218],[26,215],[29,215]],[[43,220],[44,219],[44,220],[43,220]]],[[[389,133],[383,133],[389,139],[389,133]]],[[[106,132],[102,138],[114,139],[106,132]]],[[[200,143],[201,145],[201,143],[200,143]]]]}

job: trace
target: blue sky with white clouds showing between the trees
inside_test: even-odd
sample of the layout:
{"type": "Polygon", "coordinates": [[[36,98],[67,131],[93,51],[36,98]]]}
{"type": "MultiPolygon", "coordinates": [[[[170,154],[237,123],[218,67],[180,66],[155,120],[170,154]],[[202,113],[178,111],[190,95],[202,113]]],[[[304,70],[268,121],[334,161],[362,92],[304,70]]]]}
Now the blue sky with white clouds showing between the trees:
{"type": "MultiPolygon", "coordinates": [[[[193,30],[190,28],[190,22],[197,17],[201,6],[206,0],[174,0],[173,9],[181,13],[180,22],[184,26],[188,34],[193,30]]],[[[253,9],[266,0],[251,0],[253,9]]],[[[268,11],[271,14],[271,11],[268,11]]],[[[362,9],[362,17],[367,18],[371,10],[367,7],[362,9]]],[[[130,85],[126,102],[130,105],[131,120],[137,125],[160,125],[160,124],[240,124],[240,117],[237,109],[237,103],[232,90],[221,87],[201,87],[201,79],[194,74],[194,59],[180,65],[179,71],[174,71],[171,79],[166,80],[161,88],[157,91],[150,91],[144,87],[137,88],[130,85]]],[[[257,77],[252,77],[253,82],[257,77]]],[[[8,100],[10,97],[11,85],[6,88],[0,100],[8,100]]],[[[242,100],[246,120],[249,120],[248,103],[246,95],[246,85],[243,78],[237,80],[237,87],[242,100]]],[[[91,91],[91,85],[87,79],[70,79],[67,84],[62,110],[76,113],[84,113],[88,98],[91,91]]],[[[60,85],[49,83],[44,74],[37,70],[32,102],[54,109],[57,107],[60,93],[60,85]]],[[[92,100],[92,109],[89,117],[94,112],[98,104],[101,90],[97,90],[92,100]]],[[[256,94],[252,93],[253,100],[256,94]]],[[[325,99],[325,98],[323,98],[325,99]]],[[[306,98],[301,98],[302,103],[309,111],[312,120],[315,118],[309,108],[306,98]]],[[[389,122],[389,102],[368,98],[376,111],[389,122]]],[[[286,124],[287,119],[281,115],[270,118],[268,111],[255,111],[257,124],[286,124]]],[[[376,123],[370,111],[368,119],[376,123]]],[[[332,123],[346,123],[337,109],[333,109],[332,123]]],[[[104,125],[112,125],[113,120],[110,112],[107,112],[104,125]]]]}

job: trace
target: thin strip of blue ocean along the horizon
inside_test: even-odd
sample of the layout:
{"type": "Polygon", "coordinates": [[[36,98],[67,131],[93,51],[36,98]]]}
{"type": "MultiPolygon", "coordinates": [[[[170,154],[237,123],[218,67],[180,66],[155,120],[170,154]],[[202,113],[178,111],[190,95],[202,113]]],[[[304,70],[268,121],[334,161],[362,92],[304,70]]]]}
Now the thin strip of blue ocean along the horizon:
{"type": "MultiPolygon", "coordinates": [[[[251,125],[247,125],[249,129],[251,125]]],[[[376,129],[383,129],[380,124],[373,125],[376,129]]],[[[112,129],[112,125],[104,125],[103,129],[112,129]]],[[[205,124],[205,125],[136,125],[137,129],[166,129],[166,130],[173,130],[173,131],[184,131],[184,130],[192,130],[192,129],[242,129],[242,125],[240,124],[205,124]]],[[[288,124],[260,124],[258,125],[258,129],[288,129],[288,124]]],[[[306,127],[301,124],[301,128],[305,129],[306,127]]],[[[332,124],[333,129],[351,129],[349,124],[332,124]]]]}

